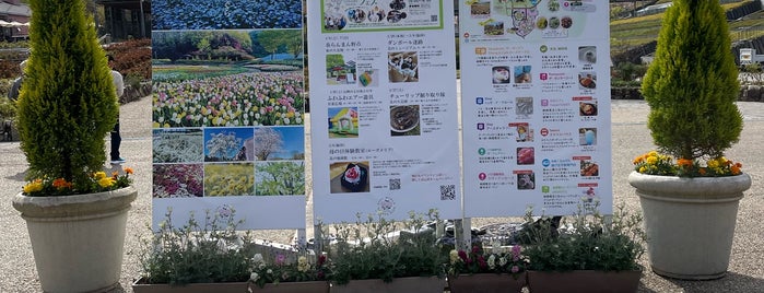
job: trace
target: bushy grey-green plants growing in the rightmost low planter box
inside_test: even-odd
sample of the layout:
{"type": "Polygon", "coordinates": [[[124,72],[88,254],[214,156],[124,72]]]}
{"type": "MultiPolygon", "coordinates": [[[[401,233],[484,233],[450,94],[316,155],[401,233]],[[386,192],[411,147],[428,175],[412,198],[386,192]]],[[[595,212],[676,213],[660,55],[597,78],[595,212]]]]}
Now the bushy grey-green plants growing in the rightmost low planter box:
{"type": "MultiPolygon", "coordinates": [[[[557,230],[551,221],[529,225],[530,244],[524,248],[528,269],[539,271],[640,270],[645,253],[642,215],[630,214],[623,206],[610,220],[599,213],[599,202],[581,203],[576,214],[563,219],[557,230]],[[552,233],[556,230],[559,233],[552,233]]],[[[533,223],[532,210],[526,221],[533,223]]],[[[542,215],[543,218],[543,215],[542,215]]]]}

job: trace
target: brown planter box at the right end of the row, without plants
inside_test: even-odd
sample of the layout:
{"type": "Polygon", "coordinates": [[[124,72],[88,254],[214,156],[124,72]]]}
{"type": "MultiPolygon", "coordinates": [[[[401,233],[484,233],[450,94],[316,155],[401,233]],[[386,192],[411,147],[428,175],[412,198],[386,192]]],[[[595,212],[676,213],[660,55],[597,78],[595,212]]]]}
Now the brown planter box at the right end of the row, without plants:
{"type": "Polygon", "coordinates": [[[636,292],[642,271],[528,271],[531,293],[636,292]]]}

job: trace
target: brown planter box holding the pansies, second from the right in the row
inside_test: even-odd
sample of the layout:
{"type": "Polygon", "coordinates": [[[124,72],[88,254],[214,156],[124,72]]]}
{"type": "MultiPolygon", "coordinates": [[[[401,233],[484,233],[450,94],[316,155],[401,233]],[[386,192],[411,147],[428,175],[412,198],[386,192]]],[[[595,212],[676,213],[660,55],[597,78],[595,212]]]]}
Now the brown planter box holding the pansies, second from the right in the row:
{"type": "Polygon", "coordinates": [[[459,274],[448,278],[451,293],[504,293],[521,292],[526,286],[526,273],[512,276],[507,273],[459,274]]]}

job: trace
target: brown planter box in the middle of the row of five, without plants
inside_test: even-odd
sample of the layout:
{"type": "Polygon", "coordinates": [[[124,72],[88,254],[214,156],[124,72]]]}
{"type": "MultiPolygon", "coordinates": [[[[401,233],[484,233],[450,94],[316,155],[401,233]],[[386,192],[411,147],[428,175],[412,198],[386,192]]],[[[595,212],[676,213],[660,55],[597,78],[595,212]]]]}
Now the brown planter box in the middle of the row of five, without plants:
{"type": "Polygon", "coordinates": [[[381,279],[353,280],[350,283],[331,284],[332,293],[443,293],[446,280],[435,277],[396,278],[386,283],[381,279]]]}

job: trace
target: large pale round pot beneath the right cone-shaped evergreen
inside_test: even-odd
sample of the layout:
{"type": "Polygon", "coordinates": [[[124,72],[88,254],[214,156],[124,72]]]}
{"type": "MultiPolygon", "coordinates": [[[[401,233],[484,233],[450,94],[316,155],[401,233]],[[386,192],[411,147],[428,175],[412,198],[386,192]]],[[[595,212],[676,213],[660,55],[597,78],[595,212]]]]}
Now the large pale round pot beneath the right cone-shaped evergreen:
{"type": "Polygon", "coordinates": [[[639,196],[655,273],[687,280],[727,273],[738,203],[751,187],[748,174],[680,178],[632,172],[628,184],[639,196]]]}

